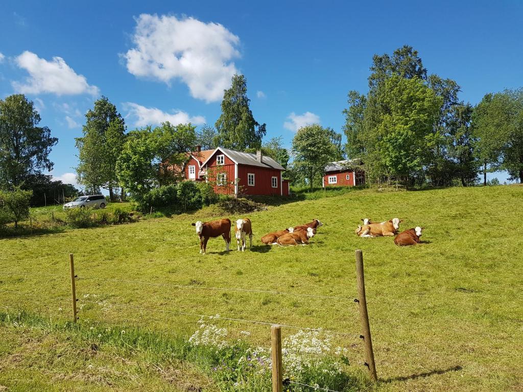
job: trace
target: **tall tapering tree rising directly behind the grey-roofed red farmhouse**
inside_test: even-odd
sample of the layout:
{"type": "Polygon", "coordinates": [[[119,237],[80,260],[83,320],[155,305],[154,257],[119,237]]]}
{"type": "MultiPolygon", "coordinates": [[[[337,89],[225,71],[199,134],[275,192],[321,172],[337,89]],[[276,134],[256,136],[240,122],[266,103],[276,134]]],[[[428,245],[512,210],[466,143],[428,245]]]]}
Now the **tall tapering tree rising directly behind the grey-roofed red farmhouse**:
{"type": "Polygon", "coordinates": [[[224,90],[222,113],[215,124],[218,131],[215,137],[216,145],[238,151],[244,151],[249,147],[261,147],[266,125],[260,125],[254,120],[249,102],[245,76],[234,75],[231,88],[224,90]]]}

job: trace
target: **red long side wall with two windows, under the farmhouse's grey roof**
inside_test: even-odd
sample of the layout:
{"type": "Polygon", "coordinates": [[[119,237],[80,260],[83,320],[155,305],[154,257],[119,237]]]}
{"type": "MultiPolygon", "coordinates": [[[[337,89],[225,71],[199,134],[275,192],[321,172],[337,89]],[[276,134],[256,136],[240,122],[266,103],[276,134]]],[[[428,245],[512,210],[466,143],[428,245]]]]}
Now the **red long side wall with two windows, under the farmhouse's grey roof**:
{"type": "Polygon", "coordinates": [[[280,195],[281,171],[258,166],[238,165],[238,193],[248,195],[280,195]],[[254,186],[247,183],[247,174],[254,174],[254,186]],[[277,188],[272,188],[272,177],[277,177],[277,188]]]}

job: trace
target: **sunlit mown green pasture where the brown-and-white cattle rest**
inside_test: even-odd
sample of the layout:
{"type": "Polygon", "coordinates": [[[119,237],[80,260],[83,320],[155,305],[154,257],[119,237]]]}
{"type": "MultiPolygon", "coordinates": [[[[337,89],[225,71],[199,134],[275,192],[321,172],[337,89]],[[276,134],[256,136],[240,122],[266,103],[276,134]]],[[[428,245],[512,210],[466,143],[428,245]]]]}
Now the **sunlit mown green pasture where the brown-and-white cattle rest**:
{"type": "MultiPolygon", "coordinates": [[[[521,186],[353,191],[249,214],[254,246],[242,253],[234,244],[229,255],[223,254],[221,238],[209,241],[206,256],[198,253],[198,237],[190,223],[210,220],[215,213],[212,208],[128,225],[5,238],[0,239],[0,305],[15,312],[26,309],[46,319],[70,317],[70,300],[51,298],[70,295],[71,252],[78,274],[79,316],[84,323],[101,320],[139,325],[165,336],[188,337],[197,329],[196,316],[135,308],[141,307],[323,327],[358,335],[357,308],[350,298],[356,296],[354,250],[362,249],[380,378],[376,390],[521,392],[522,202],[521,186]],[[392,238],[358,238],[354,234],[360,218],[395,216],[404,219],[402,229],[424,226],[426,244],[397,248],[392,238]],[[271,230],[313,218],[325,225],[310,246],[260,244],[259,237],[271,230]]],[[[235,220],[239,216],[229,217],[235,220]]],[[[269,344],[268,326],[214,321],[228,327],[231,339],[247,330],[252,344],[269,344]]],[[[74,330],[21,324],[0,323],[6,337],[0,342],[0,390],[1,385],[8,390],[216,390],[209,375],[189,363],[167,364],[158,357],[153,362],[169,369],[173,376],[168,378],[151,368],[150,358],[139,350],[107,345],[93,354],[88,350],[89,340],[74,330]],[[57,360],[56,353],[70,361],[57,360]],[[101,370],[88,367],[93,364],[95,370],[101,370]],[[86,376],[73,376],[78,372],[86,376]],[[190,389],[183,385],[184,380],[192,380],[190,385],[202,389],[190,389]]],[[[294,332],[283,328],[284,336],[294,332]]],[[[349,371],[360,377],[365,371],[361,342],[347,336],[338,339],[349,349],[349,371]]]]}

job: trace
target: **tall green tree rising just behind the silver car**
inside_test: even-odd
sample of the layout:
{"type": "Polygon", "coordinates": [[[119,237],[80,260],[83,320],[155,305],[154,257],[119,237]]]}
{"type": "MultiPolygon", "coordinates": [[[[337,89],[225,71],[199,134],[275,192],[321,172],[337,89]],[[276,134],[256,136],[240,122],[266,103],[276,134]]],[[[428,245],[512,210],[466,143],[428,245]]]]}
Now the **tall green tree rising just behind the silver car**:
{"type": "Polygon", "coordinates": [[[90,189],[109,190],[109,198],[114,200],[113,189],[118,186],[116,162],[126,137],[125,122],[104,96],[95,101],[85,118],[83,137],[76,139],[78,181],[90,189]]]}

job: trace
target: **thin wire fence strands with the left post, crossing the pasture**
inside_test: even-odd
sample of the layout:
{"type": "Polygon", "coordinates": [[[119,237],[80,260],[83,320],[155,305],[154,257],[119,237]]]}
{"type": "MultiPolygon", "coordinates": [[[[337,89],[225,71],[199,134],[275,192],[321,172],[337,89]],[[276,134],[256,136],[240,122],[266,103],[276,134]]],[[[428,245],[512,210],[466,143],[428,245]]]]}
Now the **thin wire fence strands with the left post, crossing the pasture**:
{"type": "MultiPolygon", "coordinates": [[[[351,339],[361,339],[361,340],[365,341],[365,339],[362,339],[362,338],[364,338],[364,336],[361,335],[360,333],[336,331],[336,330],[333,330],[332,328],[318,328],[318,327],[314,328],[314,327],[309,327],[309,326],[280,323],[280,322],[274,321],[274,320],[247,319],[247,318],[237,317],[237,316],[233,316],[233,315],[223,316],[223,315],[217,314],[217,315],[213,316],[213,315],[209,315],[206,313],[190,312],[190,311],[186,311],[184,309],[166,309],[166,308],[164,308],[164,304],[162,304],[162,308],[158,308],[156,306],[150,306],[150,305],[123,304],[123,303],[118,303],[115,301],[108,301],[108,299],[100,299],[99,301],[92,301],[89,297],[90,294],[85,294],[84,296],[76,297],[76,288],[75,288],[76,284],[75,283],[76,282],[79,283],[82,281],[84,281],[84,282],[98,281],[98,282],[110,283],[111,285],[113,285],[113,284],[146,285],[146,286],[162,287],[162,288],[169,289],[169,290],[177,289],[177,290],[188,290],[188,291],[201,290],[201,291],[217,291],[217,292],[238,292],[238,293],[251,293],[251,294],[256,294],[256,295],[278,295],[278,296],[290,296],[290,297],[302,297],[302,298],[316,298],[316,299],[321,299],[322,301],[331,301],[331,302],[334,301],[334,302],[340,302],[342,304],[347,304],[348,302],[356,303],[358,306],[360,306],[360,303],[359,303],[360,301],[358,301],[358,299],[354,299],[354,298],[349,298],[349,297],[345,297],[345,296],[337,296],[337,295],[323,295],[323,294],[311,294],[311,293],[295,293],[295,292],[286,292],[286,291],[277,291],[277,290],[263,290],[263,289],[257,289],[257,288],[256,289],[247,289],[244,287],[214,287],[214,286],[185,285],[185,284],[175,284],[175,283],[157,283],[157,282],[149,282],[149,281],[144,281],[144,280],[132,280],[132,279],[101,278],[101,277],[96,277],[96,276],[83,276],[83,275],[78,276],[74,273],[74,263],[73,263],[72,255],[71,255],[71,271],[70,272],[71,272],[72,297],[62,295],[61,293],[60,293],[60,295],[50,295],[50,294],[42,294],[42,293],[36,293],[36,292],[24,292],[24,291],[19,291],[19,290],[7,290],[7,289],[3,289],[3,288],[0,289],[0,292],[8,293],[11,295],[21,295],[21,296],[31,297],[32,302],[36,302],[39,304],[42,304],[42,298],[47,298],[50,301],[60,300],[60,301],[63,301],[64,303],[69,302],[70,305],[71,305],[71,301],[72,301],[73,314],[74,314],[73,321],[74,322],[77,322],[77,320],[79,319],[79,317],[77,316],[78,313],[79,314],[84,313],[84,310],[83,310],[84,306],[91,305],[91,306],[89,306],[88,309],[86,308],[86,310],[88,310],[89,312],[96,312],[96,310],[98,309],[98,308],[96,308],[96,306],[100,306],[102,308],[115,307],[115,308],[119,308],[119,309],[137,310],[137,311],[141,312],[142,315],[146,314],[147,320],[149,320],[149,321],[154,320],[154,321],[158,321],[158,322],[163,322],[164,321],[163,319],[157,319],[152,316],[153,313],[157,313],[157,314],[163,314],[166,317],[170,317],[173,315],[185,316],[185,317],[197,317],[200,320],[203,320],[203,319],[222,320],[222,321],[251,324],[251,325],[256,325],[256,326],[265,326],[265,327],[277,325],[281,328],[288,328],[288,329],[294,329],[294,330],[299,330],[299,331],[318,331],[318,332],[325,333],[327,335],[338,336],[338,337],[343,337],[343,338],[348,337],[351,339]],[[77,308],[78,305],[79,305],[79,309],[77,308]],[[92,305],[95,305],[95,307],[93,307],[92,305]]],[[[18,276],[19,278],[22,278],[22,279],[24,279],[24,278],[25,279],[59,278],[59,279],[63,279],[64,281],[66,280],[66,278],[69,278],[69,276],[67,274],[61,275],[61,274],[54,274],[54,273],[16,272],[16,271],[0,270],[0,278],[2,277],[2,275],[8,275],[11,277],[18,276]],[[30,276],[30,278],[28,278],[28,276],[30,276]],[[37,276],[38,278],[35,278],[35,276],[37,276]]],[[[10,283],[17,283],[17,282],[15,281],[15,282],[10,282],[10,283]]],[[[82,289],[84,289],[84,290],[86,289],[86,287],[88,287],[83,284],[81,286],[82,286],[82,289]]],[[[93,287],[92,287],[92,289],[93,289],[93,287]]],[[[96,295],[98,295],[99,298],[107,298],[107,297],[112,298],[113,297],[113,294],[100,293],[100,287],[96,287],[96,290],[98,291],[98,293],[96,295]]],[[[93,291],[93,290],[89,290],[89,291],[93,291]]],[[[191,304],[191,305],[194,306],[195,304],[191,304]]],[[[65,307],[65,305],[64,305],[64,307],[65,307]]],[[[7,306],[6,306],[6,308],[7,308],[7,306]]],[[[59,309],[62,310],[63,308],[60,307],[59,309]]],[[[96,320],[96,319],[92,320],[88,317],[85,317],[84,320],[86,322],[90,322],[90,323],[96,324],[96,325],[107,324],[107,325],[119,326],[122,328],[126,328],[126,327],[128,328],[129,321],[135,322],[137,327],[141,327],[144,324],[143,318],[140,320],[127,319],[126,322],[124,322],[124,323],[113,322],[112,320],[105,320],[105,319],[104,320],[96,320]]],[[[368,323],[368,319],[367,319],[367,323],[368,323]]],[[[369,340],[370,340],[370,330],[369,330],[369,340]]],[[[228,342],[234,343],[230,340],[228,342]]],[[[268,348],[264,345],[258,345],[258,348],[263,349],[263,350],[268,350],[268,351],[272,350],[274,352],[274,345],[272,348],[268,348]]],[[[281,348],[281,342],[280,342],[280,348],[281,348]]],[[[315,357],[315,356],[322,357],[327,354],[324,352],[317,353],[314,351],[309,352],[308,350],[293,350],[293,349],[289,349],[289,348],[285,348],[283,350],[283,352],[285,355],[292,353],[294,355],[303,355],[303,356],[312,356],[312,357],[315,357]]],[[[332,353],[328,353],[328,354],[330,355],[332,353]]],[[[280,349],[280,355],[281,355],[281,349],[280,349]]],[[[366,349],[366,355],[367,355],[367,349],[366,349]]],[[[373,361],[373,356],[372,356],[372,361],[373,361]]],[[[365,365],[368,365],[367,362],[365,362],[365,365]]],[[[324,386],[322,387],[317,384],[309,385],[309,384],[301,383],[298,381],[291,381],[290,379],[287,380],[287,384],[289,384],[289,385],[294,384],[297,386],[310,387],[310,388],[313,388],[314,390],[338,392],[334,389],[329,389],[324,386]]]]}

